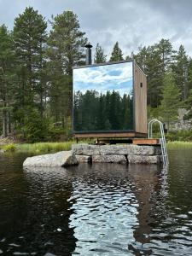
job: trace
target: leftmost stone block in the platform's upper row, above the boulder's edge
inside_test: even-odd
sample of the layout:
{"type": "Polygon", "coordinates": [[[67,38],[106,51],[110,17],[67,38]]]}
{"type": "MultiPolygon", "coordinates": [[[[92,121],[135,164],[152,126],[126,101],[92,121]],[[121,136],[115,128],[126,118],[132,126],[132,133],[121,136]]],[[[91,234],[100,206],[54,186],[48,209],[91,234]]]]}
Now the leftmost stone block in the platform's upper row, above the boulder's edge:
{"type": "Polygon", "coordinates": [[[72,150],[75,155],[93,155],[100,154],[100,146],[88,144],[72,145],[72,150]]]}

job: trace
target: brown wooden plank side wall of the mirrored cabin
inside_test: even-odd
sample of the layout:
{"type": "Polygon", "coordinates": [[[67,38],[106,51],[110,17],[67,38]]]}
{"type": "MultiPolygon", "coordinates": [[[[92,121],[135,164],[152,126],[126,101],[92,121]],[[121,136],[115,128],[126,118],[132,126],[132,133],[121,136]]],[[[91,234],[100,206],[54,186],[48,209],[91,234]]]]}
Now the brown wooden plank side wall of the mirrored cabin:
{"type": "Polygon", "coordinates": [[[135,131],[148,133],[147,119],[147,78],[134,62],[135,131]],[[142,84],[141,84],[142,83],[142,84]]]}

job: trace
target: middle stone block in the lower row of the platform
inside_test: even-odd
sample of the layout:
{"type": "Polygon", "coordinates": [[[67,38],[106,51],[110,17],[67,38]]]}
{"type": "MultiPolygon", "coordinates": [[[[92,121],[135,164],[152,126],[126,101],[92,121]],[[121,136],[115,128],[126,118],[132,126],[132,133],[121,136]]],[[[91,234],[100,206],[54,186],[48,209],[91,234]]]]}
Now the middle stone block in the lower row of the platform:
{"type": "Polygon", "coordinates": [[[118,164],[127,163],[125,155],[120,155],[120,154],[93,155],[92,162],[93,163],[118,163],[118,164]]]}

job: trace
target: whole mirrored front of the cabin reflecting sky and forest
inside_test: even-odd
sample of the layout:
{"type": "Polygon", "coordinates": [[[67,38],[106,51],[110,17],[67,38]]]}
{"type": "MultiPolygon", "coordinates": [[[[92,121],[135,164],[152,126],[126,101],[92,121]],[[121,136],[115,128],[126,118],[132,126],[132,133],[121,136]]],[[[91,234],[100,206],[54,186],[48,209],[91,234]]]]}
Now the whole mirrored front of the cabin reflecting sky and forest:
{"type": "Polygon", "coordinates": [[[73,131],[132,130],[132,62],[74,68],[73,131]]]}

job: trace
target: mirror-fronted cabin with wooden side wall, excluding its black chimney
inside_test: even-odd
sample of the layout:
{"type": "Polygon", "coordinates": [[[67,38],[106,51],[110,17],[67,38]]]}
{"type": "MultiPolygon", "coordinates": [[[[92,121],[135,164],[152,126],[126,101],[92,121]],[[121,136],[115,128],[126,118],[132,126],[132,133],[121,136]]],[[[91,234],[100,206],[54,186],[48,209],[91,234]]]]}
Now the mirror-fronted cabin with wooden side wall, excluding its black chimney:
{"type": "Polygon", "coordinates": [[[145,137],[147,78],[135,61],[73,68],[74,137],[145,137]]]}

